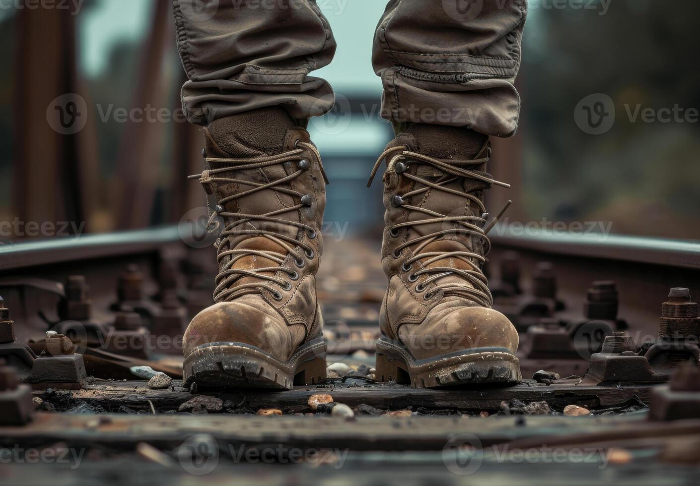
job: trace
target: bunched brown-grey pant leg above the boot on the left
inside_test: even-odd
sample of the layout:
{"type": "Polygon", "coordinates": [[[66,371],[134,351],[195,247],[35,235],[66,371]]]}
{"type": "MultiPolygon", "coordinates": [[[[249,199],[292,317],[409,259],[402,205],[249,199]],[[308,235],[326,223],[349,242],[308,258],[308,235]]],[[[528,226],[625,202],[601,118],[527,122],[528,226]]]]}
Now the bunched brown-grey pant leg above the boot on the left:
{"type": "Polygon", "coordinates": [[[308,76],[335,54],[316,0],[173,0],[173,11],[190,122],[276,105],[303,120],[332,108],[330,85],[308,76]]]}

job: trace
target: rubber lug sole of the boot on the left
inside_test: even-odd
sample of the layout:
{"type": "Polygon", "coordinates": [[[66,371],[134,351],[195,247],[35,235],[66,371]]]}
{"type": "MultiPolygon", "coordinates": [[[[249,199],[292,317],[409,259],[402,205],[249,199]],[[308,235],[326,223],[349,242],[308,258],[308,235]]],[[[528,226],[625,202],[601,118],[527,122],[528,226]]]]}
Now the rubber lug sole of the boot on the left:
{"type": "Polygon", "coordinates": [[[208,343],[186,357],[185,387],[292,389],[325,378],[326,346],[321,338],[302,345],[288,362],[246,343],[208,343]]]}

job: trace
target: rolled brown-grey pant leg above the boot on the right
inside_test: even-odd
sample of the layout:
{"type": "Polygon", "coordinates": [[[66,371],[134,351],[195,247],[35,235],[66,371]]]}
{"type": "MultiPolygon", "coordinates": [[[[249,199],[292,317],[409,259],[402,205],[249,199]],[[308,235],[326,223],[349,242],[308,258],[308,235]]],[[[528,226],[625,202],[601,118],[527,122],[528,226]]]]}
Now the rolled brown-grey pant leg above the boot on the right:
{"type": "Polygon", "coordinates": [[[372,63],[382,116],[511,136],[527,0],[390,0],[372,63]]]}

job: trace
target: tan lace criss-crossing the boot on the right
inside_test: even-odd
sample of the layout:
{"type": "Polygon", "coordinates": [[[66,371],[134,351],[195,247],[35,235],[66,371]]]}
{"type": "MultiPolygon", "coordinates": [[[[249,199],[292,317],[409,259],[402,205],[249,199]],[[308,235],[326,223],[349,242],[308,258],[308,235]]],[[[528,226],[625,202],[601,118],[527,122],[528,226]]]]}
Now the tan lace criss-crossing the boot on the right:
{"type": "Polygon", "coordinates": [[[484,144],[482,150],[479,151],[479,155],[486,154],[484,157],[477,156],[479,157],[477,159],[456,160],[428,157],[427,155],[413,152],[407,145],[401,145],[385,150],[384,153],[379,156],[379,159],[377,159],[377,162],[374,164],[374,168],[372,169],[370,180],[367,182],[367,187],[372,185],[372,180],[374,180],[374,176],[377,175],[381,162],[386,157],[391,155],[391,159],[388,161],[387,171],[393,170],[400,176],[414,181],[414,187],[419,187],[419,189],[406,192],[400,196],[393,196],[391,203],[395,207],[401,207],[407,210],[424,213],[427,216],[426,219],[394,224],[389,229],[392,236],[398,236],[398,231],[402,228],[417,227],[422,224],[435,224],[436,222],[453,223],[451,227],[446,227],[445,229],[434,231],[433,233],[426,234],[424,236],[418,236],[412,240],[406,241],[405,243],[401,243],[394,249],[393,257],[399,258],[404,248],[417,245],[416,248],[413,249],[413,256],[406,259],[406,261],[403,263],[402,270],[410,271],[414,263],[419,262],[419,260],[421,261],[419,262],[419,266],[421,268],[417,271],[409,273],[408,278],[409,281],[415,282],[416,280],[419,280],[421,276],[426,276],[426,278],[424,278],[424,280],[416,286],[416,290],[418,292],[423,292],[423,290],[425,290],[430,283],[437,283],[436,287],[429,292],[426,292],[424,295],[426,300],[432,298],[436,292],[443,292],[443,294],[446,296],[450,294],[465,296],[480,306],[491,307],[491,305],[493,305],[493,297],[491,296],[491,291],[489,290],[488,280],[482,271],[482,266],[486,262],[486,255],[488,255],[489,250],[491,249],[491,241],[486,234],[488,234],[491,228],[493,228],[493,225],[498,222],[498,219],[500,219],[503,213],[505,213],[505,210],[507,210],[512,201],[507,201],[505,206],[503,206],[503,208],[498,212],[498,215],[496,215],[496,217],[491,220],[491,223],[486,226],[486,218],[489,217],[489,214],[486,213],[484,203],[482,203],[482,201],[474,194],[447,187],[447,185],[453,183],[455,180],[464,178],[482,181],[483,183],[489,185],[489,187],[491,185],[499,185],[507,188],[510,187],[509,184],[502,183],[498,180],[493,180],[493,178],[482,175],[483,173],[478,173],[477,171],[468,169],[470,166],[478,166],[488,162],[489,155],[487,155],[488,152],[486,149],[487,143],[484,144]],[[425,178],[421,178],[419,176],[414,176],[413,174],[407,172],[409,164],[412,163],[428,164],[429,166],[433,166],[435,169],[442,172],[444,175],[437,178],[435,182],[426,180],[425,178]],[[465,199],[473,201],[479,208],[480,216],[447,216],[433,210],[421,208],[420,206],[414,206],[407,202],[412,197],[419,196],[420,194],[424,194],[431,190],[447,192],[449,194],[461,196],[465,199]],[[476,236],[477,238],[480,238],[483,242],[484,254],[479,255],[478,253],[468,251],[421,252],[423,248],[430,243],[433,243],[433,241],[440,240],[447,235],[476,236]],[[468,264],[470,269],[455,269],[451,266],[435,266],[427,268],[430,264],[440,262],[440,260],[446,258],[459,259],[468,264]],[[437,282],[437,280],[453,275],[460,276],[464,280],[464,283],[456,283],[453,281],[440,284],[437,282]]]}

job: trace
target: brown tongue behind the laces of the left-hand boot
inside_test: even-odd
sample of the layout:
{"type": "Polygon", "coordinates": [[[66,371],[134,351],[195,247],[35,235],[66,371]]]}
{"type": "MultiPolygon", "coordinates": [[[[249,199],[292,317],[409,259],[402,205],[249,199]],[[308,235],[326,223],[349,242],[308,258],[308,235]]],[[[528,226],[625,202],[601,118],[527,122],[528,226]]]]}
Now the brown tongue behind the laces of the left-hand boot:
{"type": "MultiPolygon", "coordinates": [[[[251,157],[265,157],[278,155],[284,150],[287,131],[295,127],[295,122],[279,107],[262,108],[260,110],[239,113],[212,122],[207,127],[205,139],[207,141],[207,155],[209,157],[248,159],[251,157]]],[[[281,164],[264,167],[261,169],[236,170],[235,165],[221,162],[210,162],[211,169],[232,167],[231,171],[219,173],[218,176],[246,180],[258,184],[271,183],[274,180],[285,177],[287,174],[281,164]]],[[[218,192],[221,198],[251,190],[253,186],[245,184],[220,184],[218,192]]],[[[234,201],[225,203],[224,209],[232,213],[246,213],[249,215],[262,215],[285,207],[294,206],[292,196],[277,192],[274,189],[266,189],[234,201]]],[[[284,220],[299,222],[298,213],[288,212],[276,215],[284,220]]],[[[227,218],[226,224],[230,223],[227,218]]],[[[263,229],[273,231],[276,234],[284,234],[295,238],[297,227],[272,222],[251,221],[239,225],[236,229],[263,229]]],[[[264,236],[243,235],[229,236],[228,248],[235,250],[272,251],[286,255],[286,250],[281,245],[264,236]]],[[[225,259],[222,264],[225,264],[225,259]]],[[[253,270],[267,266],[278,266],[276,262],[265,257],[250,255],[237,260],[235,268],[253,270]]],[[[273,272],[265,272],[272,275],[273,272]]],[[[254,277],[243,277],[236,281],[238,285],[258,281],[254,277]]]]}

